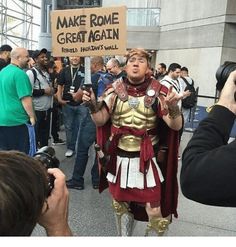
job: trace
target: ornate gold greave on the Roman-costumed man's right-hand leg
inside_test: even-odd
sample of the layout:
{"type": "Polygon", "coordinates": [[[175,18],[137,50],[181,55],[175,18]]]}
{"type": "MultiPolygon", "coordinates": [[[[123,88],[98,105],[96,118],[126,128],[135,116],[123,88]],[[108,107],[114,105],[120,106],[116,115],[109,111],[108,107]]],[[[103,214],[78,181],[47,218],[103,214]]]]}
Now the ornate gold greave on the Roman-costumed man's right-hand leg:
{"type": "Polygon", "coordinates": [[[145,231],[145,236],[149,235],[149,232],[154,231],[158,236],[163,236],[165,231],[168,229],[170,221],[165,218],[160,218],[157,216],[152,217],[145,231]]]}

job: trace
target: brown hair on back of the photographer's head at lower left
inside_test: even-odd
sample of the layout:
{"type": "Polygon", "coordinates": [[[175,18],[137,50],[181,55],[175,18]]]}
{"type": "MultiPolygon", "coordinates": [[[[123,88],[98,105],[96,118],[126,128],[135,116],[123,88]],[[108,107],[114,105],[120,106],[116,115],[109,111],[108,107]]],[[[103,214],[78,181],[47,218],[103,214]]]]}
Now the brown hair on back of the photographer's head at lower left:
{"type": "Polygon", "coordinates": [[[40,161],[0,151],[0,236],[31,235],[47,191],[47,172],[40,161]]]}

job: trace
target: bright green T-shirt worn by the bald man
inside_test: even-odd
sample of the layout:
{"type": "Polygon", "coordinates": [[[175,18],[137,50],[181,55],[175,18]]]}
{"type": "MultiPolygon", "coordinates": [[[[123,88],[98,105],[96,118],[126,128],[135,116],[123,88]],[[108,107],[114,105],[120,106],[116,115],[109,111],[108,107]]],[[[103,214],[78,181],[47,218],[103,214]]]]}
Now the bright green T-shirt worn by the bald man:
{"type": "Polygon", "coordinates": [[[32,96],[32,87],[26,73],[9,64],[0,72],[0,126],[17,126],[27,123],[21,99],[32,96]]]}

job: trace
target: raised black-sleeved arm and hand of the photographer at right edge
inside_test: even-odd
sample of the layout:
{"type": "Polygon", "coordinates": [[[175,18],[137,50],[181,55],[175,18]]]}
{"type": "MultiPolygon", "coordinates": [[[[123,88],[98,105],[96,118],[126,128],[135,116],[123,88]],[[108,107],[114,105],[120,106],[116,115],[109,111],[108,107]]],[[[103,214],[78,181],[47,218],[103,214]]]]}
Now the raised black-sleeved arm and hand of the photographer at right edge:
{"type": "Polygon", "coordinates": [[[236,70],[231,72],[220,99],[201,121],[182,159],[183,194],[214,206],[236,206],[236,140],[228,144],[236,114],[236,70]]]}

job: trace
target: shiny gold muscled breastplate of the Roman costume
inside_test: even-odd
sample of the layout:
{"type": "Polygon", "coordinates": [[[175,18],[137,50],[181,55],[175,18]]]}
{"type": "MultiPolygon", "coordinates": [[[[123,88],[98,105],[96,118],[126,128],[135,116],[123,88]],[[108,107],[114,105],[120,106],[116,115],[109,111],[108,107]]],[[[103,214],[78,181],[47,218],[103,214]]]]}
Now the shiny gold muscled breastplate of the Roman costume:
{"type": "MultiPolygon", "coordinates": [[[[154,129],[157,125],[157,116],[152,107],[144,106],[144,96],[129,96],[127,101],[121,101],[119,98],[116,102],[112,123],[115,127],[128,126],[134,129],[154,129]]],[[[151,136],[152,144],[158,142],[157,136],[151,136]]],[[[118,147],[134,152],[140,151],[141,137],[134,135],[123,135],[118,147]]]]}

